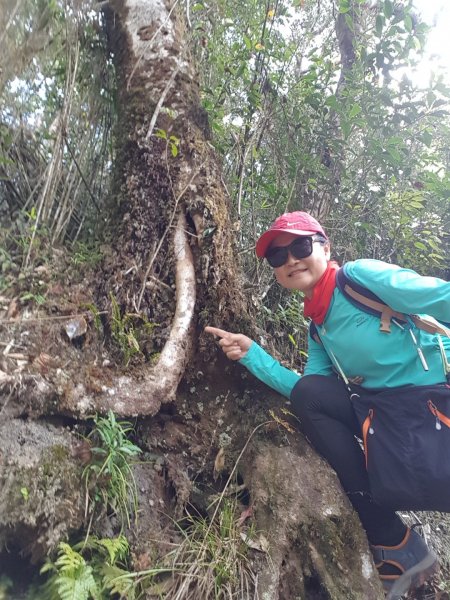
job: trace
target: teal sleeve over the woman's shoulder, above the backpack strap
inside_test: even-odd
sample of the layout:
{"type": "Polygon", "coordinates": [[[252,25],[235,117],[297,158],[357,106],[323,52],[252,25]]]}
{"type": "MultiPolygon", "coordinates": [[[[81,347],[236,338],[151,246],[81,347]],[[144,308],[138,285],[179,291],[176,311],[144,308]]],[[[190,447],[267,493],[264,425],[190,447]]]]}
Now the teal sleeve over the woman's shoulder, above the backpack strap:
{"type": "Polygon", "coordinates": [[[444,323],[450,321],[448,281],[371,259],[347,263],[345,269],[351,279],[374,292],[394,310],[427,314],[444,323]]]}

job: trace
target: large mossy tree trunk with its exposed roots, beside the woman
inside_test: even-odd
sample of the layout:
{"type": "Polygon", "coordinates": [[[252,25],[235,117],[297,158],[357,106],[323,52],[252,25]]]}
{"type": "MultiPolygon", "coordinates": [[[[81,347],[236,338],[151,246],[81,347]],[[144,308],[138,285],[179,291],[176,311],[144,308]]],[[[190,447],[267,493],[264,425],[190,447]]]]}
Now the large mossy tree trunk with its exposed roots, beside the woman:
{"type": "MultiPolygon", "coordinates": [[[[139,475],[137,557],[160,554],[172,540],[160,525],[161,505],[174,518],[187,505],[205,514],[208,496],[224,494],[232,481],[245,489],[242,508],[252,509],[268,541],[254,556],[259,598],[381,598],[367,540],[333,472],[285,429],[284,417],[270,416],[280,398],[226,363],[200,333],[206,323],[250,335],[254,327],[178,7],[117,0],[107,22],[120,120],[113,241],[97,302],[114,302],[117,321],[138,315],[141,326],[151,325],[147,360],[106,376],[88,364],[101,365],[105,352],[93,331],[81,349],[66,340],[70,374],[47,365],[45,373],[22,375],[7,414],[85,418],[112,409],[141,417],[138,437],[158,469],[151,469],[152,492],[148,471],[139,475]],[[156,536],[159,546],[150,541],[156,536]]],[[[3,383],[14,390],[13,381],[3,383]]]]}

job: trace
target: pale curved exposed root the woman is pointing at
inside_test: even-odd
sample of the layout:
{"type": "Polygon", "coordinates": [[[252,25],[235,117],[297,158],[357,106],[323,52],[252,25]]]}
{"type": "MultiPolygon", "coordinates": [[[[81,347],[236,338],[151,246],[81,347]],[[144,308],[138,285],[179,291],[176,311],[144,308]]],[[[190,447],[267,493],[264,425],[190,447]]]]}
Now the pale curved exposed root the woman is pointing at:
{"type": "Polygon", "coordinates": [[[59,386],[40,375],[22,373],[20,381],[8,378],[3,382],[3,390],[9,392],[3,407],[9,416],[57,413],[83,418],[110,409],[118,416],[152,416],[161,404],[175,399],[192,353],[196,299],[195,270],[186,228],[186,218],[180,213],[174,235],[176,308],[170,335],[158,362],[142,369],[139,380],[130,376],[115,377],[95,393],[89,391],[85,383],[59,386]]]}

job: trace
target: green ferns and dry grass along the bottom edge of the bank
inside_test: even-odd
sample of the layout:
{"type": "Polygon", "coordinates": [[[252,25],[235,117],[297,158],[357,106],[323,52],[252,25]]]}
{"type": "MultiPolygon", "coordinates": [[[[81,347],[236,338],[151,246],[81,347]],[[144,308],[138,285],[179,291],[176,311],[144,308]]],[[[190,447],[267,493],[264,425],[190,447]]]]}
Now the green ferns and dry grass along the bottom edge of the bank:
{"type": "MultiPolygon", "coordinates": [[[[61,542],[54,559],[41,568],[46,580],[30,591],[30,600],[225,600],[250,599],[256,575],[251,547],[256,532],[243,527],[237,504],[225,500],[214,518],[188,515],[175,524],[178,541],[151,568],[133,571],[130,548],[120,535],[89,536],[61,542]]],[[[5,583],[6,585],[6,583],[5,583]]],[[[0,588],[1,589],[1,588],[0,588]]]]}

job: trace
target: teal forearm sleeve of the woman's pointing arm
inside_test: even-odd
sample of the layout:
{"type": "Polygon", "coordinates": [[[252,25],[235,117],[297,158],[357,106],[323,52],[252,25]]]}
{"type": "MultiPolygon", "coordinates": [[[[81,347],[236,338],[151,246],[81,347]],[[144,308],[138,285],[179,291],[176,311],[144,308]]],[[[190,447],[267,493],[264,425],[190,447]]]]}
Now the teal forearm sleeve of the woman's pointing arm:
{"type": "Polygon", "coordinates": [[[244,358],[239,361],[250,373],[281,395],[289,398],[300,375],[286,369],[256,342],[252,342],[244,358]]]}

